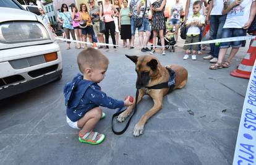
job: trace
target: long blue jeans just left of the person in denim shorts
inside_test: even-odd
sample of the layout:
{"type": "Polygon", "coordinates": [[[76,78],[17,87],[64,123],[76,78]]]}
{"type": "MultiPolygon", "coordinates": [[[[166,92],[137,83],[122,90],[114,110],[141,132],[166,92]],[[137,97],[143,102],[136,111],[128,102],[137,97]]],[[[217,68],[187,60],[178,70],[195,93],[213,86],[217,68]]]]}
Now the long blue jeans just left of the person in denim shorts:
{"type": "MultiPolygon", "coordinates": [[[[210,40],[219,39],[222,36],[223,25],[227,15],[210,15],[210,40]]],[[[218,58],[220,48],[215,43],[210,44],[211,55],[218,58]]]]}

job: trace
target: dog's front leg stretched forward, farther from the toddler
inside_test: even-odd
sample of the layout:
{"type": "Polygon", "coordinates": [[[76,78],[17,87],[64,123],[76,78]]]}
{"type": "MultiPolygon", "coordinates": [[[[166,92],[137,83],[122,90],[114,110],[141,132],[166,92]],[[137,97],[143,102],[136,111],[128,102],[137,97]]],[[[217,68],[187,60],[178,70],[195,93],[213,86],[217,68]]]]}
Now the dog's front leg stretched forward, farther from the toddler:
{"type": "Polygon", "coordinates": [[[160,109],[163,108],[163,95],[155,95],[155,97],[153,98],[153,101],[154,101],[154,106],[145,114],[143,114],[143,116],[140,118],[140,121],[135,125],[134,127],[135,137],[139,137],[139,135],[143,134],[144,126],[148,121],[148,119],[150,119],[151,116],[153,116],[156,112],[160,111],[160,109]]]}

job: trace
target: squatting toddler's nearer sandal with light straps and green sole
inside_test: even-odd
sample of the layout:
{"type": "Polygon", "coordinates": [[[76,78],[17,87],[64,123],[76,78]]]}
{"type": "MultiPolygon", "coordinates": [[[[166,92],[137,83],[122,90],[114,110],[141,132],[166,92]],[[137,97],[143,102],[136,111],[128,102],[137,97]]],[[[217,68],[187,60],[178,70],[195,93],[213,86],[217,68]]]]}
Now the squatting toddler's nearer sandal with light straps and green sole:
{"type": "Polygon", "coordinates": [[[94,132],[92,139],[88,139],[87,137],[90,135],[90,133],[92,133],[92,132],[87,132],[87,133],[85,133],[85,135],[82,135],[81,132],[79,132],[79,142],[89,143],[91,145],[98,145],[105,140],[105,135],[100,134],[98,132],[94,132]],[[100,135],[100,138],[98,138],[98,140],[96,140],[96,137],[98,137],[98,135],[100,135]]]}

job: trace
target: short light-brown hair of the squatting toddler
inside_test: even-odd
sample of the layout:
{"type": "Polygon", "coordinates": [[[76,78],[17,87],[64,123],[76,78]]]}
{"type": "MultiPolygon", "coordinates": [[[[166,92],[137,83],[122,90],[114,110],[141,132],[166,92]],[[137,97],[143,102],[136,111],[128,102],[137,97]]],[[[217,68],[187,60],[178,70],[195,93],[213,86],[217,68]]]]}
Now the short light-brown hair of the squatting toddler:
{"type": "Polygon", "coordinates": [[[108,58],[101,51],[93,48],[80,51],[77,56],[77,64],[80,72],[84,72],[87,67],[98,68],[102,65],[109,64],[108,58]]]}

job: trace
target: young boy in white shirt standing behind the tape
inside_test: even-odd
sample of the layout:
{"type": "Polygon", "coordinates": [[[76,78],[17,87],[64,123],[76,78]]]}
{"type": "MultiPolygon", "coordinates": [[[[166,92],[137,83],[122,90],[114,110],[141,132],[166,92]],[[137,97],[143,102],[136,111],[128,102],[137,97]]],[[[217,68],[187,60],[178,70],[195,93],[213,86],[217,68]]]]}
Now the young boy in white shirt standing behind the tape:
{"type": "MultiPolygon", "coordinates": [[[[193,14],[188,17],[186,26],[188,27],[187,30],[187,37],[185,44],[188,43],[196,43],[199,41],[199,35],[200,35],[200,28],[203,27],[203,24],[205,23],[205,17],[203,17],[202,14],[200,14],[200,9],[202,7],[201,1],[195,1],[193,4],[193,14]]],[[[192,59],[196,60],[197,56],[195,55],[196,50],[198,49],[198,44],[192,44],[192,45],[184,45],[184,49],[186,49],[186,54],[183,57],[183,59],[189,59],[189,54],[191,53],[192,49],[192,59]]]]}

